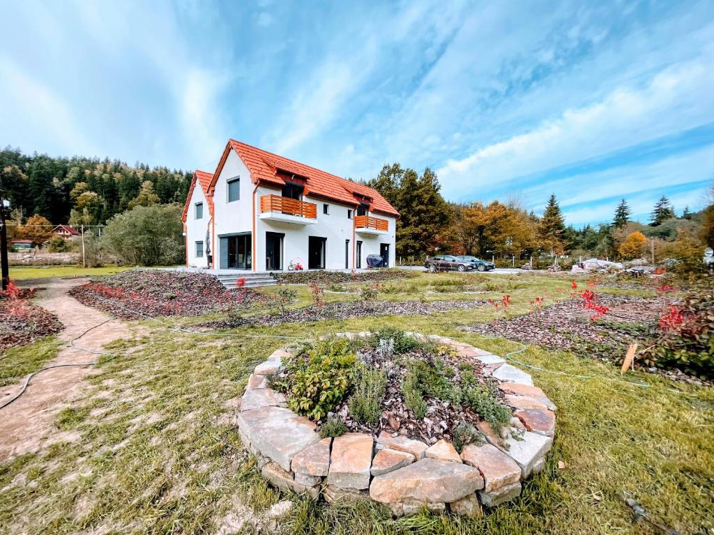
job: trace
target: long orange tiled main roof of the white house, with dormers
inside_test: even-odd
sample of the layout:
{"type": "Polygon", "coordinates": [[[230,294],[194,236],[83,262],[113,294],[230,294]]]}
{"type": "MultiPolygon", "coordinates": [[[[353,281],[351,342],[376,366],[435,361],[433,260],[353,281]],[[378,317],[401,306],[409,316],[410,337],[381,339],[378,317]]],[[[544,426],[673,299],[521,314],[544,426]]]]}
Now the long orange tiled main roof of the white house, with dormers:
{"type": "Polygon", "coordinates": [[[211,192],[216,187],[216,180],[221,174],[221,169],[226,163],[230,151],[236,151],[243,163],[246,164],[253,183],[263,183],[279,188],[285,185],[286,179],[290,180],[294,175],[294,178],[297,178],[296,181],[305,183],[306,195],[336,200],[339,203],[353,206],[367,202],[373,211],[399,217],[397,210],[373,188],[233,139],[228,140],[223,157],[218,163],[216,172],[213,173],[213,179],[209,186],[211,192]]]}

